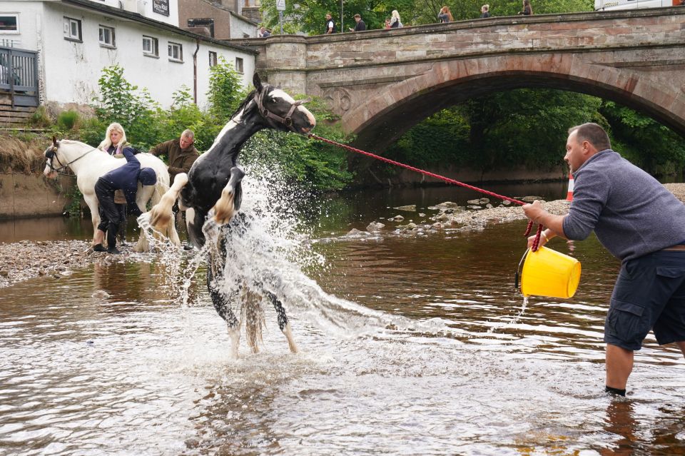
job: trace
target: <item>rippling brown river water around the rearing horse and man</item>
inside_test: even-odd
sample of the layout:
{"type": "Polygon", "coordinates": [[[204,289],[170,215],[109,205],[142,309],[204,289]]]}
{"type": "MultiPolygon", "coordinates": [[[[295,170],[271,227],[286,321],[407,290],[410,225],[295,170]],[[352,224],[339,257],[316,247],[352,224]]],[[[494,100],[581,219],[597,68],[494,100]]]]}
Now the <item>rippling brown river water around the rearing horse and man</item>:
{"type": "MultiPolygon", "coordinates": [[[[558,199],[566,186],[489,189],[558,199]]],[[[265,308],[260,353],[243,343],[230,360],[203,268],[178,280],[192,253],[0,289],[0,455],[685,455],[679,350],[650,336],[627,399],[603,393],[619,263],[595,238],[549,245],[582,262],[574,298],[523,308],[513,281],[524,222],[412,236],[387,222],[470,198],[341,194],[295,235],[283,213],[266,213],[275,230],[255,221],[236,263],[280,274],[297,355],[265,308]],[[405,204],[417,212],[393,209],[405,204]],[[345,235],[372,221],[389,228],[345,235]],[[264,243],[284,253],[249,248],[264,243]]],[[[88,225],[18,221],[0,233],[83,239],[88,225]]]]}

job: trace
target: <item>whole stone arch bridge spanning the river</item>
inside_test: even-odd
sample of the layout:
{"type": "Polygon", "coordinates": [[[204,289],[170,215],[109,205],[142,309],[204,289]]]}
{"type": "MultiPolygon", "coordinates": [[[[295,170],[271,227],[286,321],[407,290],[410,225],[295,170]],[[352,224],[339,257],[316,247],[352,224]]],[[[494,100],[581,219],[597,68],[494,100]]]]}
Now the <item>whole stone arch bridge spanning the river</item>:
{"type": "Polygon", "coordinates": [[[612,99],[685,136],[685,7],[510,16],[323,36],[271,36],[256,67],[327,99],[357,143],[383,150],[432,113],[512,88],[612,99]]]}

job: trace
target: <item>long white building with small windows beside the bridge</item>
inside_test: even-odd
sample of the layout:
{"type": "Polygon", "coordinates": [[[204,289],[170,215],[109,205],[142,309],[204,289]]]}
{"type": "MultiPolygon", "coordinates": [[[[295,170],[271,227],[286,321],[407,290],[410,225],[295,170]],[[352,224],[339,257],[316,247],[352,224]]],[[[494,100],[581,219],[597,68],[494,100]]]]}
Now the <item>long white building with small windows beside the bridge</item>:
{"type": "Polygon", "coordinates": [[[183,85],[205,107],[209,67],[220,56],[247,86],[255,52],[179,29],[177,2],[2,0],[0,46],[37,51],[41,104],[91,103],[102,69],[115,64],[164,107],[183,85]]]}

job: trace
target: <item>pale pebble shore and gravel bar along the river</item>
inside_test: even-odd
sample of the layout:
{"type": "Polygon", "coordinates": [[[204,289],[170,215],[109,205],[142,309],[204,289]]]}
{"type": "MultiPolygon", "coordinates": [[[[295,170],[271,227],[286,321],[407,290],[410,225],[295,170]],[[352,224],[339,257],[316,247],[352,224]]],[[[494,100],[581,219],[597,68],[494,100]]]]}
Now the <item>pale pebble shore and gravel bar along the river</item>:
{"type": "MultiPolygon", "coordinates": [[[[676,198],[685,203],[685,183],[668,183],[664,185],[674,193],[676,198]]],[[[499,202],[497,202],[499,203],[499,202]]],[[[420,230],[440,230],[452,228],[460,230],[477,230],[494,223],[517,221],[525,218],[520,206],[509,204],[498,207],[488,207],[485,203],[482,207],[457,208],[446,204],[435,206],[438,210],[435,215],[427,218],[430,223],[417,225],[407,223],[402,225],[401,220],[389,223],[374,222],[367,231],[354,230],[348,233],[350,236],[368,235],[370,233],[382,233],[395,230],[410,234],[420,230]],[[383,225],[383,226],[381,226],[383,225]]],[[[489,206],[494,206],[489,204],[489,206]]],[[[569,211],[569,204],[563,200],[547,201],[543,203],[547,211],[563,215],[569,211]]],[[[407,214],[406,211],[401,213],[407,214]]],[[[400,211],[398,211],[400,215],[400,211]]],[[[386,222],[386,221],[384,221],[386,222]]],[[[89,241],[86,240],[57,240],[57,241],[28,241],[22,240],[16,243],[0,243],[0,288],[7,287],[23,280],[36,277],[48,277],[59,280],[71,275],[74,270],[86,268],[96,262],[115,263],[130,260],[129,244],[123,248],[121,255],[93,252],[89,241]]]]}

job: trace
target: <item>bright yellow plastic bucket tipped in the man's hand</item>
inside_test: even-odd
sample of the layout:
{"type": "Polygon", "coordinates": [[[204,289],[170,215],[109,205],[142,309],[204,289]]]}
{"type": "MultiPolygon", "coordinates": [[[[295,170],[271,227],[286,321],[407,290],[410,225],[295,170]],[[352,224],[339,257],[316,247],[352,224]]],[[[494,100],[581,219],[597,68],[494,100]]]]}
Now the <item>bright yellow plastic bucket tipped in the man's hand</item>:
{"type": "Polygon", "coordinates": [[[572,298],[576,294],[580,282],[578,260],[547,247],[535,252],[528,249],[524,258],[521,271],[521,293],[524,296],[572,298]]]}

